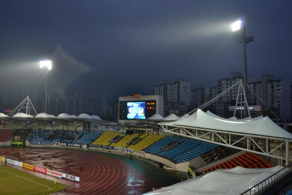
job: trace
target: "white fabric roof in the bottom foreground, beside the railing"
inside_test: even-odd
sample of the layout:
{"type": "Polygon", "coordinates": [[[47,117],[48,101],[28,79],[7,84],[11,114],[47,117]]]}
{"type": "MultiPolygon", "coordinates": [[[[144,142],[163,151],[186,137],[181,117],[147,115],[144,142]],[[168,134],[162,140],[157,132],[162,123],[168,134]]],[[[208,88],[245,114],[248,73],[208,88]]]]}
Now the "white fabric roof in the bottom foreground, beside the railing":
{"type": "MultiPolygon", "coordinates": [[[[220,169],[144,195],[240,195],[281,170],[282,166],[220,169]]],[[[256,187],[255,191],[258,189],[256,187]]]]}

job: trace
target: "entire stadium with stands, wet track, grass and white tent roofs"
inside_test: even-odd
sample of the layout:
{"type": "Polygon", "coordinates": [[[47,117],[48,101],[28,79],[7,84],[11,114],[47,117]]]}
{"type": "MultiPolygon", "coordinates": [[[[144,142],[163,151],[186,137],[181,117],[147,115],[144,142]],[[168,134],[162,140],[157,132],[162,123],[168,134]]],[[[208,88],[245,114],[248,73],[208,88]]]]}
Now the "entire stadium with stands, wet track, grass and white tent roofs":
{"type": "Polygon", "coordinates": [[[266,195],[292,188],[292,134],[269,117],[203,111],[216,99],[162,117],[159,100],[143,98],[126,102],[131,119],[137,111],[135,123],[123,110],[122,123],[33,114],[29,97],[1,114],[0,194],[266,195]],[[147,102],[155,102],[148,113],[147,102]]]}

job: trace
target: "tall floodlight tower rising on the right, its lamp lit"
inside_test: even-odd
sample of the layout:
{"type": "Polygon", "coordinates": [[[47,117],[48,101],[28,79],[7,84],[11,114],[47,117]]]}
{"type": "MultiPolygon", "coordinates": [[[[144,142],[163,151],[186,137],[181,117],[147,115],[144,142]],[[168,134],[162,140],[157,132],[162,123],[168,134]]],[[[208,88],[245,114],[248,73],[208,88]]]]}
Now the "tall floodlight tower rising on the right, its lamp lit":
{"type": "MultiPolygon", "coordinates": [[[[254,41],[254,36],[249,36],[246,37],[245,35],[245,25],[243,25],[243,27],[241,27],[241,20],[237,20],[236,22],[234,22],[231,25],[231,29],[233,32],[236,32],[236,36],[237,36],[237,41],[240,43],[243,43],[243,81],[245,82],[245,84],[247,83],[247,62],[246,62],[246,44],[254,41]]],[[[247,86],[244,85],[244,91],[246,94],[246,97],[248,98],[248,91],[247,91],[247,86]]],[[[247,109],[248,107],[246,107],[246,109],[244,109],[244,117],[247,117],[247,109]]]]}

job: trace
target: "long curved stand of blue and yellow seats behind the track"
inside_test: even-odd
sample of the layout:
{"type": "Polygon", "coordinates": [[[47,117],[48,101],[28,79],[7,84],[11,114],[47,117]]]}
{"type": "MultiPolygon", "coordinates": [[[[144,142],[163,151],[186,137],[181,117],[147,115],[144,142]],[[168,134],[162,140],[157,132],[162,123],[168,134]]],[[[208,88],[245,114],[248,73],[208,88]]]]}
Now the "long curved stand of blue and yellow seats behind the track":
{"type": "MultiPolygon", "coordinates": [[[[34,131],[29,138],[32,144],[48,144],[54,142],[70,142],[91,144],[91,147],[110,146],[125,147],[133,149],[135,152],[145,151],[146,153],[169,158],[174,162],[185,162],[196,158],[207,151],[217,147],[196,139],[171,137],[164,135],[148,135],[133,133],[130,135],[121,134],[119,132],[97,132],[97,131],[34,131]],[[110,143],[113,138],[122,137],[116,143],[110,143]],[[139,138],[139,139],[138,139],[139,138]],[[138,139],[131,143],[132,140],[138,139]],[[137,142],[137,143],[136,143],[137,142]],[[177,146],[163,151],[163,147],[172,142],[177,142],[177,146]],[[132,145],[133,144],[133,145],[132,145]]],[[[118,140],[118,139],[117,139],[118,140]]]]}

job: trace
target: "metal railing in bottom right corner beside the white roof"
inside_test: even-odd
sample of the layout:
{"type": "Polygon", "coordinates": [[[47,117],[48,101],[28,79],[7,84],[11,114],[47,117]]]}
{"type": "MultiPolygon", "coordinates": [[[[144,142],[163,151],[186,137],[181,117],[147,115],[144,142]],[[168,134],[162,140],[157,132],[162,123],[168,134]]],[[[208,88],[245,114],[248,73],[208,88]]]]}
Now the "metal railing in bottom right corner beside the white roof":
{"type": "Polygon", "coordinates": [[[287,176],[292,172],[292,163],[281,169],[280,171],[274,173],[272,176],[269,176],[265,180],[254,185],[247,191],[243,192],[240,195],[259,195],[264,192],[266,189],[273,186],[276,182],[281,180],[284,176],[287,176]]]}

